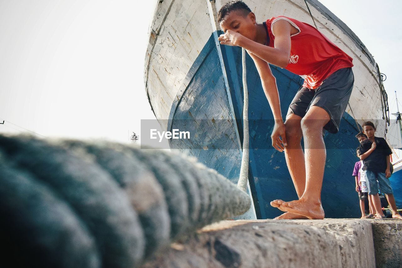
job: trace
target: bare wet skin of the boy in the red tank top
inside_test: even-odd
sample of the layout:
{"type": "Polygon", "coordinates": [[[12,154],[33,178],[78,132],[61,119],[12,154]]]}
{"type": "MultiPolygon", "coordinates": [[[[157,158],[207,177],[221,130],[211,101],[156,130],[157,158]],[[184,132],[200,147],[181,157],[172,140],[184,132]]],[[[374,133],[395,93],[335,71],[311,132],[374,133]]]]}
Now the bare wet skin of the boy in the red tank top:
{"type": "MultiPolygon", "coordinates": [[[[274,200],[271,205],[284,212],[279,219],[300,219],[301,216],[308,219],[324,219],[324,210],[321,206],[321,187],[324,175],[326,149],[322,138],[322,128],[329,122],[328,113],[321,107],[312,106],[304,118],[299,119],[299,126],[289,126],[283,123],[279,104],[279,95],[275,78],[268,63],[285,68],[289,64],[291,49],[290,36],[298,30],[285,20],[279,20],[273,26],[275,35],[274,47],[264,45],[267,40],[267,33],[262,24],[257,24],[254,13],[244,14],[240,11],[232,11],[224,17],[220,23],[223,35],[218,40],[224,45],[244,47],[256,64],[261,76],[263,89],[273,112],[275,126],[271,139],[273,147],[278,151],[285,151],[289,155],[304,154],[300,148],[287,150],[285,132],[298,132],[304,137],[305,161],[299,162],[305,169],[298,169],[297,165],[288,165],[289,171],[293,174],[292,179],[299,195],[299,200],[283,202],[274,200]],[[286,129],[288,128],[288,129],[286,129]],[[293,152],[291,152],[293,150],[293,152]],[[305,187],[303,187],[305,186],[305,187]],[[297,216],[301,215],[301,216],[297,216]]],[[[300,138],[301,140],[301,138],[300,138]]],[[[298,141],[300,144],[300,141],[298,141]]],[[[295,148],[295,146],[291,146],[295,148]]],[[[293,157],[294,159],[294,157],[293,157]]],[[[304,157],[303,157],[304,160],[304,157]]]]}

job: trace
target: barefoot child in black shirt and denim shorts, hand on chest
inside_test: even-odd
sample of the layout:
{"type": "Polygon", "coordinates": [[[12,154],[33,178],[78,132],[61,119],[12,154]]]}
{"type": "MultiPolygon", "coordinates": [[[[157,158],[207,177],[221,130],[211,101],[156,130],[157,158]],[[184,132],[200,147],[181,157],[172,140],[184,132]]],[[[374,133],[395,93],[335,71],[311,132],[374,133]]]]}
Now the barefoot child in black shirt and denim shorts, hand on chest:
{"type": "MultiPolygon", "coordinates": [[[[401,219],[402,216],[396,210],[395,198],[391,188],[390,180],[390,155],[392,151],[384,138],[375,137],[375,127],[370,121],[363,123],[363,133],[366,134],[367,140],[360,143],[359,157],[363,160],[363,170],[366,175],[367,187],[369,188],[369,196],[372,198],[378,194],[378,185],[381,188],[391,206],[392,218],[401,219]]],[[[381,204],[377,199],[372,198],[375,208],[375,218],[381,219],[381,204]]]]}

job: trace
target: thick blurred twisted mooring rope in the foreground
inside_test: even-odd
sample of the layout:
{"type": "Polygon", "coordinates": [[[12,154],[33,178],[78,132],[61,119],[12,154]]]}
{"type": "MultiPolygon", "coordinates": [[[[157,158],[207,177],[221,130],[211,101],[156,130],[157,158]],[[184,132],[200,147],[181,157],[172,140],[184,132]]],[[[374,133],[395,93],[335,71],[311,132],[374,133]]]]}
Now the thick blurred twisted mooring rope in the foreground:
{"type": "Polygon", "coordinates": [[[181,155],[0,136],[0,256],[16,266],[135,267],[249,207],[228,179],[181,155]]]}

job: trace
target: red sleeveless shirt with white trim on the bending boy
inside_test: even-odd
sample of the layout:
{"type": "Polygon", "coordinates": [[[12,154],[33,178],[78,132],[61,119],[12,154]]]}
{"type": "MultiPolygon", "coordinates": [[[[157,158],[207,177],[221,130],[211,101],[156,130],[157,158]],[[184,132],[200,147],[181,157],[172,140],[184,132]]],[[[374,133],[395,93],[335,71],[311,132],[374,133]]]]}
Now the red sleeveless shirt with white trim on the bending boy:
{"type": "Polygon", "coordinates": [[[305,75],[303,87],[315,89],[333,72],[353,66],[352,58],[316,28],[285,16],[272,17],[266,22],[270,47],[274,47],[275,40],[272,26],[281,19],[299,30],[299,33],[291,35],[289,64],[285,69],[298,75],[305,75]]]}

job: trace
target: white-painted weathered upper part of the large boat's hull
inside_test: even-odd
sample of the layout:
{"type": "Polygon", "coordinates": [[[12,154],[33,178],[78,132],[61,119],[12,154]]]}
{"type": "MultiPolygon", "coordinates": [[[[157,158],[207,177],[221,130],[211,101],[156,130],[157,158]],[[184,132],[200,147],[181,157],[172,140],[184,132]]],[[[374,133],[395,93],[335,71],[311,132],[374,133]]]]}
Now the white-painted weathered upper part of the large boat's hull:
{"type": "MultiPolygon", "coordinates": [[[[244,2],[255,12],[259,22],[283,15],[313,24],[304,0],[244,2]]],[[[308,2],[312,2],[309,7],[318,29],[353,58],[355,84],[347,113],[359,124],[365,120],[376,120],[377,133],[384,136],[386,122],[380,108],[380,79],[373,57],[334,14],[320,9],[318,1],[308,2]],[[365,109],[367,105],[377,109],[365,109]]],[[[219,6],[219,3],[216,5],[219,6]]],[[[146,52],[144,79],[157,119],[168,119],[174,97],[212,32],[207,1],[164,0],[156,7],[146,52]]]]}

